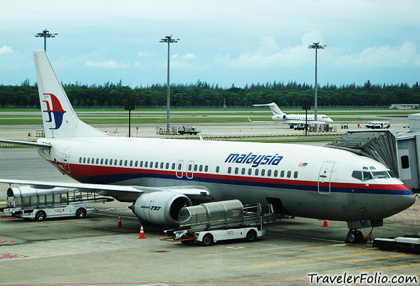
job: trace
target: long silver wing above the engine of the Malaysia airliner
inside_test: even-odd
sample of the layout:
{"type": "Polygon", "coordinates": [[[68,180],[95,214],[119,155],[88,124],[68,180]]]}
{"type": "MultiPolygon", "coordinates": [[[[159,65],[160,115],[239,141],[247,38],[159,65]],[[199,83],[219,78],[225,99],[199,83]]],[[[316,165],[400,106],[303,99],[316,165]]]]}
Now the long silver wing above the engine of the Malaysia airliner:
{"type": "Polygon", "coordinates": [[[119,201],[136,201],[143,193],[154,191],[172,191],[178,194],[184,194],[189,198],[201,198],[211,200],[209,189],[203,186],[165,186],[165,187],[147,187],[147,186],[121,186],[105,184],[81,184],[81,183],[62,183],[52,181],[26,181],[14,179],[0,179],[4,184],[28,185],[34,189],[53,189],[55,187],[76,189],[82,192],[98,193],[103,196],[112,196],[119,201]]]}

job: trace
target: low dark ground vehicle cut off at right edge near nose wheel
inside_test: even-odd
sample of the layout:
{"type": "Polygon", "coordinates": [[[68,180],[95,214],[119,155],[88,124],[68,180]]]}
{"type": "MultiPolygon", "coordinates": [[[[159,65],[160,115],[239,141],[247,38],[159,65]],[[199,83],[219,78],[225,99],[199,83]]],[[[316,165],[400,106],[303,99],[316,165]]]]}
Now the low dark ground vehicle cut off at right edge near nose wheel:
{"type": "Polygon", "coordinates": [[[372,246],[387,250],[420,253],[420,234],[404,235],[399,238],[375,238],[372,246]]]}

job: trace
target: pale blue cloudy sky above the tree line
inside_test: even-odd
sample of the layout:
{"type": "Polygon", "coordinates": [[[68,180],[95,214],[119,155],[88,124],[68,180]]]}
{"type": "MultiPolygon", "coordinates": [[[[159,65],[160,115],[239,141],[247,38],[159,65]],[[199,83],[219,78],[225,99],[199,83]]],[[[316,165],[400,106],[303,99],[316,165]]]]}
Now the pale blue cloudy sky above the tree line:
{"type": "Polygon", "coordinates": [[[63,83],[198,80],[414,85],[420,81],[418,0],[0,0],[0,84],[36,83],[43,48],[63,83]]]}

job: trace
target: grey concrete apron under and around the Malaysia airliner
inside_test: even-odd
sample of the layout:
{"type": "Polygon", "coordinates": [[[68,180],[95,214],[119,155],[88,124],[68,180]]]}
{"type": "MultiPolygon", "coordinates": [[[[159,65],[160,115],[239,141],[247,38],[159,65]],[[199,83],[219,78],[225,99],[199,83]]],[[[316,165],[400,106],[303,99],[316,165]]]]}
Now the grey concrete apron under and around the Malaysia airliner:
{"type": "MultiPolygon", "coordinates": [[[[72,181],[34,149],[0,149],[0,174],[72,181]]],[[[7,187],[0,184],[0,201],[7,187]]],[[[232,240],[203,247],[161,241],[165,228],[156,226],[145,226],[146,238],[139,239],[140,223],[127,206],[100,203],[98,213],[84,219],[0,218],[0,286],[309,285],[311,273],[403,275],[420,281],[419,255],[379,250],[372,243],[345,244],[344,222],[328,221],[329,227],[322,227],[314,219],[283,219],[267,225],[268,234],[255,243],[232,240]],[[118,216],[122,227],[117,227],[118,216]]],[[[374,229],[374,237],[413,233],[420,233],[419,200],[374,229]]],[[[359,280],[351,285],[369,284],[359,280]]]]}

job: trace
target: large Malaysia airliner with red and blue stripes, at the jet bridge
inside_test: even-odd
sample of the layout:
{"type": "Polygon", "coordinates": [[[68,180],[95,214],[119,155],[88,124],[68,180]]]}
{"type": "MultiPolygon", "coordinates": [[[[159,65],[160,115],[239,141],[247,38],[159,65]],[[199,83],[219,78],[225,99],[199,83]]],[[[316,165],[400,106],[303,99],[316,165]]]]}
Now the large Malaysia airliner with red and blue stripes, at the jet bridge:
{"type": "MultiPolygon", "coordinates": [[[[109,137],[78,119],[44,51],[33,52],[45,138],[38,149],[75,183],[0,179],[28,188],[94,191],[128,202],[142,223],[177,225],[184,206],[233,198],[286,216],[359,229],[409,208],[413,192],[378,161],[342,149],[283,143],[109,137]]],[[[23,187],[21,187],[23,188],[23,187]]]]}

